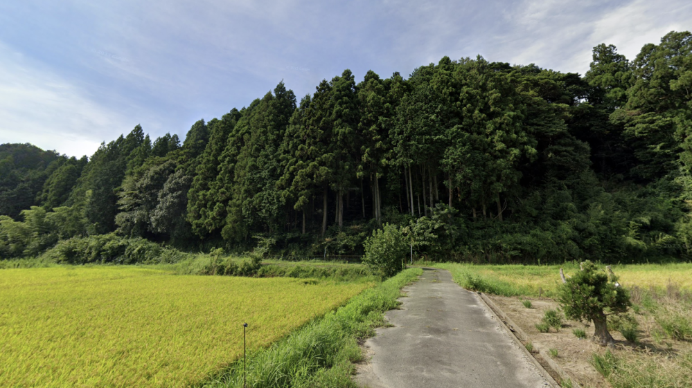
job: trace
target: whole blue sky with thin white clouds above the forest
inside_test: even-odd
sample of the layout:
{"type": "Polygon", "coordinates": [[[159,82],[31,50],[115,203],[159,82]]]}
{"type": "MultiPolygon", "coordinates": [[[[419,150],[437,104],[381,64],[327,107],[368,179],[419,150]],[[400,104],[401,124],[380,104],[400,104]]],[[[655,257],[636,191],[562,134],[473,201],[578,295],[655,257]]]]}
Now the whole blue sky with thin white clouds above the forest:
{"type": "Polygon", "coordinates": [[[692,30],[691,1],[1,1],[0,143],[184,139],[282,80],[300,100],[346,68],[407,77],[445,55],[583,75],[594,46],[634,59],[672,30],[692,30]]]}

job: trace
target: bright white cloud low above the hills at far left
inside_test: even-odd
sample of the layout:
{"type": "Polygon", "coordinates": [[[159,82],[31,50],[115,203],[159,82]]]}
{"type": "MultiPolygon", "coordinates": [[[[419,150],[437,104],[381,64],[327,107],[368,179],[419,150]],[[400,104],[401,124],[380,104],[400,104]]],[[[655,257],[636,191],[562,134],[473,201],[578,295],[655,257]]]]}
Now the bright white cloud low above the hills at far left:
{"type": "Polygon", "coordinates": [[[125,120],[21,53],[0,44],[0,143],[30,142],[91,156],[125,120]]]}

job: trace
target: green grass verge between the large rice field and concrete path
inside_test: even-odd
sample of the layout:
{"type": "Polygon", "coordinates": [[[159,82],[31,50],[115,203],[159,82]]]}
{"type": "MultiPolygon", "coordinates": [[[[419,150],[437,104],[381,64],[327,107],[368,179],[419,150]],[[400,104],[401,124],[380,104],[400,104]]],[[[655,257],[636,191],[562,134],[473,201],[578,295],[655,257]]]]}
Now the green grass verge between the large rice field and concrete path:
{"type": "MultiPolygon", "coordinates": [[[[348,304],[294,331],[247,360],[247,386],[254,388],[357,387],[351,380],[353,362],[362,358],[358,340],[373,335],[384,323],[384,312],[395,308],[400,288],[423,273],[404,270],[348,304]]],[[[242,387],[243,361],[198,387],[242,387]]]]}

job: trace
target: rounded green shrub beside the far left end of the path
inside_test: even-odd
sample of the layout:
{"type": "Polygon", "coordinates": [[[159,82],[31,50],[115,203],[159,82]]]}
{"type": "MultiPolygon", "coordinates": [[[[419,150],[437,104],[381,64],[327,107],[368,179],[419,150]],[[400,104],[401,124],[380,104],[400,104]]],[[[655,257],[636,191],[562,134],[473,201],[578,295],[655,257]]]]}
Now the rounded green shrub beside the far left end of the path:
{"type": "Polygon", "coordinates": [[[375,275],[392,277],[404,268],[407,245],[396,225],[385,224],[365,240],[363,262],[375,275]]]}

